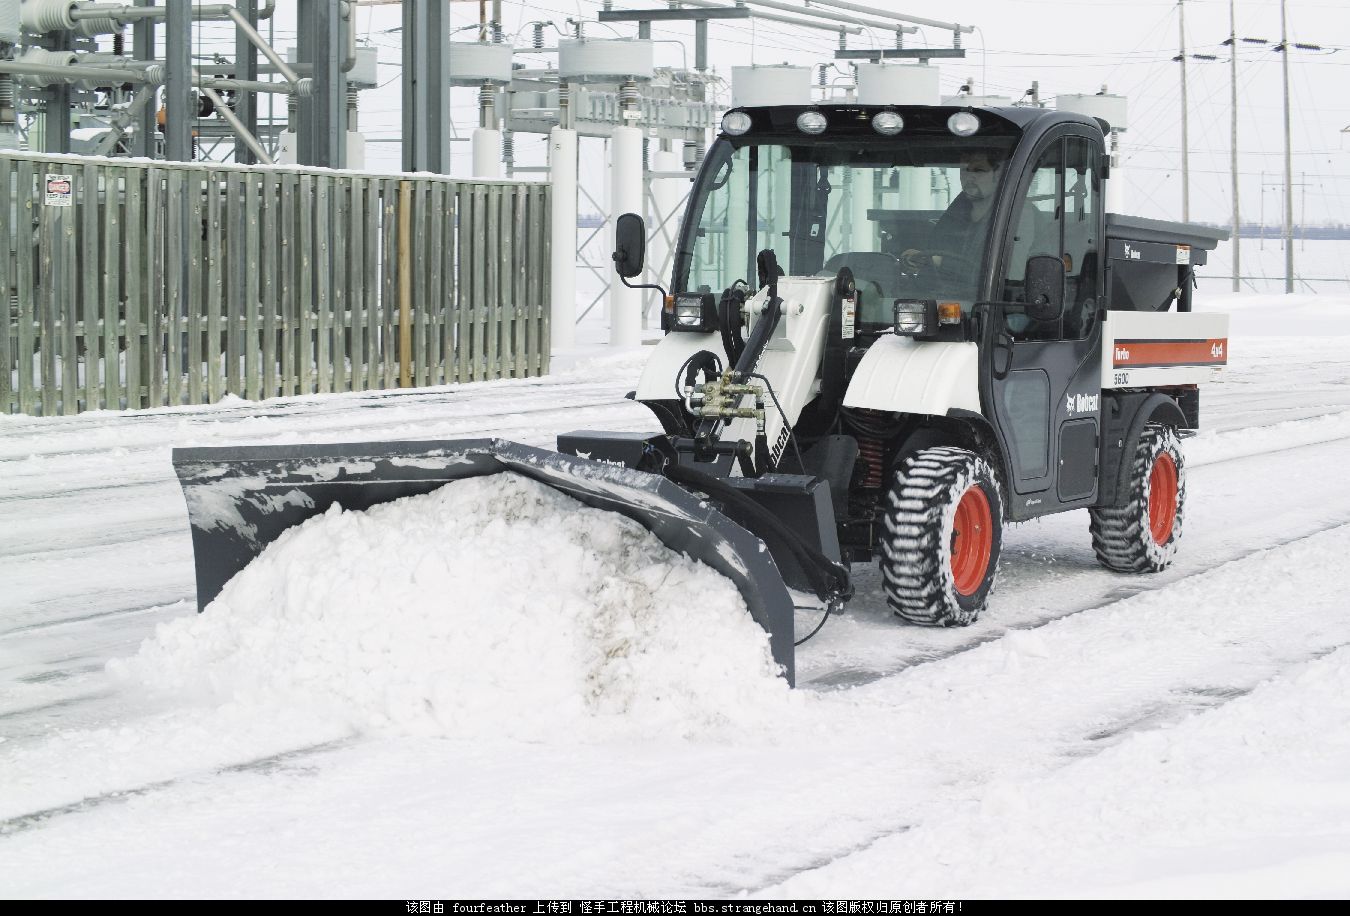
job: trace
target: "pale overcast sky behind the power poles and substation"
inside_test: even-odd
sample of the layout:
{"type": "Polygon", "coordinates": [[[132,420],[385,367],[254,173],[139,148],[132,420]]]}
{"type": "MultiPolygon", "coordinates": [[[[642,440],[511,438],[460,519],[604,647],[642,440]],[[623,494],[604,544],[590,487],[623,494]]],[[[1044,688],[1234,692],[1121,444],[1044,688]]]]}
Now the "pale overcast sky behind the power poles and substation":
{"type": "MultiPolygon", "coordinates": [[[[803,5],[805,0],[783,0],[803,5]]],[[[616,8],[664,5],[655,0],[616,0],[616,8]]],[[[873,3],[876,11],[907,12],[977,27],[963,35],[968,57],[942,63],[942,90],[973,77],[977,92],[1022,97],[1033,81],[1042,98],[1060,93],[1095,93],[1103,85],[1129,100],[1129,131],[1122,138],[1129,170],[1127,209],[1141,216],[1181,217],[1181,104],[1177,55],[1179,4],[1176,0],[946,0],[945,3],[873,3]]],[[[1226,223],[1230,204],[1230,67],[1227,49],[1228,0],[1185,0],[1187,51],[1212,54],[1218,61],[1188,62],[1191,217],[1226,223]]],[[[590,20],[587,35],[636,35],[636,26],[595,23],[595,0],[531,0],[502,4],[505,32],[517,47],[531,42],[529,23],[548,20],[567,28],[568,18],[590,20]]],[[[1238,0],[1239,38],[1280,38],[1277,0],[1238,0]]],[[[452,27],[478,19],[477,3],[451,7],[452,27]]],[[[1291,124],[1293,138],[1293,202],[1296,221],[1350,221],[1350,7],[1343,0],[1289,0],[1289,40],[1316,43],[1322,51],[1296,50],[1291,58],[1291,124]]],[[[381,80],[386,92],[366,93],[362,130],[373,138],[393,139],[400,131],[398,65],[401,49],[398,7],[366,7],[358,13],[358,36],[381,49],[381,80]]],[[[290,26],[293,28],[293,26],[290,26]]],[[[281,19],[277,42],[288,32],[281,19]]],[[[455,40],[471,39],[459,31],[455,40]]],[[[558,32],[549,30],[552,45],[558,32]]],[[[655,26],[657,65],[693,63],[693,26],[655,26]],[[684,47],[682,49],[680,43],[684,47]]],[[[767,20],[714,22],[710,59],[730,80],[730,67],[745,63],[832,62],[838,36],[830,31],[782,26],[767,20]]],[[[869,32],[849,38],[849,47],[891,46],[894,35],[869,32]]],[[[923,28],[906,39],[909,46],[949,47],[952,34],[923,28]]],[[[521,55],[536,63],[545,57],[521,55]]],[[[1280,54],[1268,46],[1243,43],[1238,57],[1239,171],[1245,220],[1264,216],[1278,224],[1282,206],[1282,113],[1280,54]]],[[[458,132],[467,138],[475,124],[475,90],[454,96],[458,132]]],[[[728,92],[722,96],[729,100],[728,92]]],[[[517,139],[517,162],[541,162],[539,138],[517,139]]],[[[468,144],[458,143],[467,170],[468,144]]],[[[373,167],[397,167],[393,143],[374,143],[373,167]]],[[[598,156],[590,156],[594,161],[598,156]]],[[[587,156],[583,156],[587,161],[587,156]]],[[[585,175],[583,175],[585,178],[585,175]]],[[[593,209],[586,201],[582,209],[593,209]]]]}

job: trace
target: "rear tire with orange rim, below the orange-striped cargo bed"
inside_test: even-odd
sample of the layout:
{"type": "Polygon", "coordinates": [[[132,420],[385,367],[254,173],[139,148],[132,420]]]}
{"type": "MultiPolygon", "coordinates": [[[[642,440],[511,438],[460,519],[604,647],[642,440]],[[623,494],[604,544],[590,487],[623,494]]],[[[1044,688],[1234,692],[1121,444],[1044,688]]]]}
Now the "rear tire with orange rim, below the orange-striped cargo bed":
{"type": "Polygon", "coordinates": [[[1145,426],[1125,506],[1088,511],[1092,549],[1107,569],[1158,572],[1172,565],[1185,518],[1185,459],[1176,430],[1145,426]]]}

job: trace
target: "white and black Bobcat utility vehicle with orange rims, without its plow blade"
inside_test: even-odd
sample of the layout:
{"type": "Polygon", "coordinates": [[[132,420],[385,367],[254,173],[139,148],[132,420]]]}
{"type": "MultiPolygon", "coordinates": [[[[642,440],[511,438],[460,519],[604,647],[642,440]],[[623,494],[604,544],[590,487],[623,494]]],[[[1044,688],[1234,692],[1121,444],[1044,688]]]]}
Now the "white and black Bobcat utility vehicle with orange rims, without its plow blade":
{"type": "MultiPolygon", "coordinates": [[[[1103,564],[1165,567],[1180,437],[1227,357],[1193,271],[1226,235],[1107,214],[1107,130],[1040,108],[729,112],[636,391],[662,460],[756,499],[828,484],[830,518],[794,525],[879,559],[914,622],[976,618],[1004,521],[1088,509],[1103,564]]],[[[641,239],[618,247],[634,273],[641,239]]]]}

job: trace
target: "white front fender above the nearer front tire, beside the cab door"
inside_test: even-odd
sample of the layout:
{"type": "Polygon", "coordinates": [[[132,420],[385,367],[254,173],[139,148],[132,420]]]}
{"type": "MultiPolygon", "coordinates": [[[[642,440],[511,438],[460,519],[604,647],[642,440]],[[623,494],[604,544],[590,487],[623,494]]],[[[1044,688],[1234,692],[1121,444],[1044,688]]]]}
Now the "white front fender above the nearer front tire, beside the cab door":
{"type": "Polygon", "coordinates": [[[980,413],[979,348],[880,337],[853,372],[844,406],[938,417],[953,407],[980,413]]]}

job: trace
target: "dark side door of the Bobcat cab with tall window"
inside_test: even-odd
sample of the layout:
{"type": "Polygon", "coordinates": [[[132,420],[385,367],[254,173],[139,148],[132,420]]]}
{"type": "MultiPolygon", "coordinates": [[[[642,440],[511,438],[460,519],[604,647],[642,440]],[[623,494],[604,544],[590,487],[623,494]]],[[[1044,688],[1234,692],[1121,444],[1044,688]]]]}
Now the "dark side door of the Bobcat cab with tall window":
{"type": "Polygon", "coordinates": [[[1058,135],[1022,175],[999,266],[996,298],[1025,304],[1027,258],[1064,262],[1064,314],[1033,321],[1022,309],[990,313],[981,391],[1008,459],[1010,514],[1031,518],[1089,505],[1098,487],[1102,410],[1100,321],[1104,214],[1100,142],[1058,135]]]}

